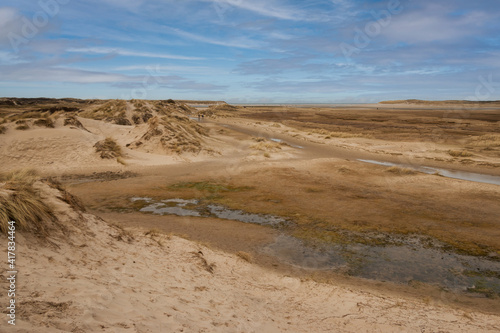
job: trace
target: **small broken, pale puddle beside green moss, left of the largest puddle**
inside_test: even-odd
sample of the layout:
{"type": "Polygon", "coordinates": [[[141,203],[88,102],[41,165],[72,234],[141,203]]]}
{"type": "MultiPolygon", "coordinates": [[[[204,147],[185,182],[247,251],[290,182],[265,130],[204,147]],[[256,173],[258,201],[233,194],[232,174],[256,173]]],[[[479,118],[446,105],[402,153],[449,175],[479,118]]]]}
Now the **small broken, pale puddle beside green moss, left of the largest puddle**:
{"type": "Polygon", "coordinates": [[[199,200],[168,199],[154,201],[152,198],[131,198],[130,201],[147,203],[148,205],[139,211],[156,215],[217,217],[272,227],[280,227],[289,223],[286,219],[273,215],[252,214],[242,210],[228,209],[220,205],[202,205],[199,200]]]}

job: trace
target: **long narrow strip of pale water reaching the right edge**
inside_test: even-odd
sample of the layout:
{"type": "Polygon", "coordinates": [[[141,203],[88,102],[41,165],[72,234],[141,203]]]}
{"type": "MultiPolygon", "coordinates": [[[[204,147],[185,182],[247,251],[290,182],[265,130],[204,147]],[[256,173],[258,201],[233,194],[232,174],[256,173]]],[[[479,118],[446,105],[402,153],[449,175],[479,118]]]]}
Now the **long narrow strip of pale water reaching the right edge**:
{"type": "Polygon", "coordinates": [[[500,176],[491,176],[491,175],[484,175],[484,174],[473,173],[473,172],[455,171],[455,170],[447,170],[447,169],[440,169],[440,168],[431,168],[431,167],[426,167],[426,166],[416,166],[416,165],[411,165],[411,164],[381,162],[381,161],[374,161],[374,160],[358,159],[358,161],[365,162],[365,163],[371,163],[371,164],[377,164],[377,165],[383,165],[383,166],[403,167],[403,168],[413,169],[413,170],[420,171],[420,172],[427,173],[427,174],[431,174],[431,175],[432,174],[439,174],[443,177],[468,180],[468,181],[477,182],[477,183],[500,185],[500,176]]]}

